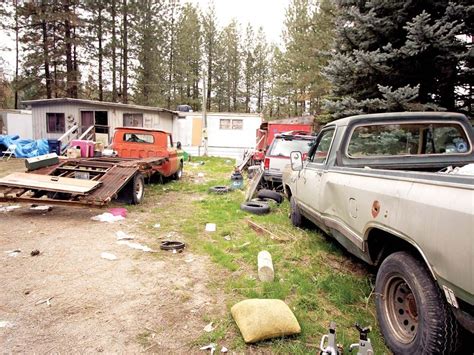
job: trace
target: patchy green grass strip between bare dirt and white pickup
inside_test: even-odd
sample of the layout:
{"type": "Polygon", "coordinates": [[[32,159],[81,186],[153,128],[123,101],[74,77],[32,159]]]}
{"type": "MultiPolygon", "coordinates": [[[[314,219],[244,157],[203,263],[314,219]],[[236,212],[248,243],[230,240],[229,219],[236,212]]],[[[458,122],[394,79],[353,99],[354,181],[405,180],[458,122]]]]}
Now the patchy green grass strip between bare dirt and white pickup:
{"type": "MultiPolygon", "coordinates": [[[[357,342],[358,334],[353,325],[359,322],[372,326],[369,337],[376,353],[389,353],[377,328],[371,297],[373,275],[316,228],[294,228],[288,218],[288,201],[273,205],[268,215],[255,216],[240,210],[243,191],[223,195],[209,193],[211,186],[230,184],[233,164],[228,159],[196,158],[192,164],[185,164],[183,180],[149,188],[147,198],[152,201],[166,200],[163,197],[170,193],[173,198],[166,200],[163,206],[152,208],[153,221],[148,226],[159,220],[161,232],[179,231],[189,250],[209,255],[212,262],[231,275],[213,284],[219,292],[225,293],[229,310],[247,298],[277,298],[290,306],[302,333],[252,345],[252,351],[314,353],[333,320],[337,324],[338,342],[345,349],[357,342]],[[198,178],[199,173],[204,177],[198,178]],[[176,211],[180,211],[179,218],[176,211]],[[286,242],[257,234],[249,228],[249,218],[286,242]],[[205,232],[206,223],[215,223],[216,232],[205,232]],[[274,282],[257,280],[257,254],[261,250],[268,250],[272,255],[274,282]]],[[[215,321],[220,322],[217,329],[203,334],[194,341],[196,344],[206,345],[223,339],[229,344],[230,336],[232,350],[249,350],[230,311],[227,319],[215,321]]]]}

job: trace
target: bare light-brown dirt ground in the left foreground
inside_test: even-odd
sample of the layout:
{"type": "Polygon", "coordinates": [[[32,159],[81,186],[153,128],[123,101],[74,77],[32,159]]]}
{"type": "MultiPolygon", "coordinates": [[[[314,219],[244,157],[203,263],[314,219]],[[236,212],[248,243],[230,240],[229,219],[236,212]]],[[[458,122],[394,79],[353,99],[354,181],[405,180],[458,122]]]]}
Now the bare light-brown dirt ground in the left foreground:
{"type": "Polygon", "coordinates": [[[208,287],[219,276],[206,256],[117,244],[124,231],[159,250],[137,227],[143,212],[109,224],[91,220],[102,210],[21,206],[0,212],[2,352],[194,353],[206,317],[226,312],[208,287]],[[14,249],[21,253],[6,253],[14,249]]]}

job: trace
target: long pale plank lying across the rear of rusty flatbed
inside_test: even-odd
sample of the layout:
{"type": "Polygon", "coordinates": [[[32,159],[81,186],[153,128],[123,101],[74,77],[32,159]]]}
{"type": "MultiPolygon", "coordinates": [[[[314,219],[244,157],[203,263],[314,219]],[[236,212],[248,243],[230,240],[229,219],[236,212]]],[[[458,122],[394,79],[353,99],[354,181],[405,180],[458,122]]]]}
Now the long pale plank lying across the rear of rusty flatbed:
{"type": "Polygon", "coordinates": [[[84,195],[99,186],[101,182],[27,173],[14,173],[0,179],[0,185],[27,187],[54,192],[84,195]]]}

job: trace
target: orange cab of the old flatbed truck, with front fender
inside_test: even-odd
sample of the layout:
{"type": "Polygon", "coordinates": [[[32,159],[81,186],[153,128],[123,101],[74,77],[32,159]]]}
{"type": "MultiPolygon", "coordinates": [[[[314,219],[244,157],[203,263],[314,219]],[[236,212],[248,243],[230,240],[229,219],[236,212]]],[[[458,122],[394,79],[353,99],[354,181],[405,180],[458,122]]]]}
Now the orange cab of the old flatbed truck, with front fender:
{"type": "Polygon", "coordinates": [[[166,158],[154,170],[165,177],[181,177],[183,158],[173,146],[171,133],[148,128],[117,127],[111,148],[120,158],[166,158]]]}

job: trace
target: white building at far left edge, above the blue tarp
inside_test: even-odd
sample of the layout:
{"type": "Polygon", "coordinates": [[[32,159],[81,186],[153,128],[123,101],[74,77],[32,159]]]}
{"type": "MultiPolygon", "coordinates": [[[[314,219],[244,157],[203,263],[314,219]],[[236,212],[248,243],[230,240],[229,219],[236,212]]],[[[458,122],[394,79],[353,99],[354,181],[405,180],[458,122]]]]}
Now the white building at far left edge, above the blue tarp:
{"type": "Polygon", "coordinates": [[[0,110],[0,134],[19,136],[22,139],[33,138],[31,111],[0,110]]]}

